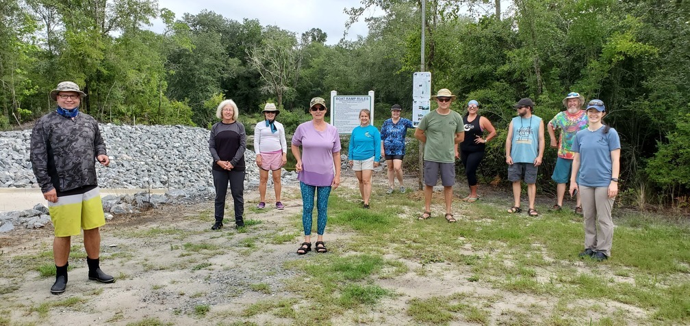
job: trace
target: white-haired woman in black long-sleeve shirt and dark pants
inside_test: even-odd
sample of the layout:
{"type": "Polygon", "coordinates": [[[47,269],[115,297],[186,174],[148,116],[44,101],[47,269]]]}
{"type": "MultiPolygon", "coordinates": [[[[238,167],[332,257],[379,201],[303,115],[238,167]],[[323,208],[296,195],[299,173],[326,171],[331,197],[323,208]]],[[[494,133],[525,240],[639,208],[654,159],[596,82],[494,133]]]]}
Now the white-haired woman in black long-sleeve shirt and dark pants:
{"type": "Polygon", "coordinates": [[[244,220],[244,151],[247,135],[244,125],[237,121],[239,110],[233,100],[222,101],[216,110],[221,121],[211,127],[208,148],[213,156],[213,185],[216,190],[215,224],[211,230],[223,227],[225,198],[230,193],[235,202],[235,227],[243,227],[244,220]]]}

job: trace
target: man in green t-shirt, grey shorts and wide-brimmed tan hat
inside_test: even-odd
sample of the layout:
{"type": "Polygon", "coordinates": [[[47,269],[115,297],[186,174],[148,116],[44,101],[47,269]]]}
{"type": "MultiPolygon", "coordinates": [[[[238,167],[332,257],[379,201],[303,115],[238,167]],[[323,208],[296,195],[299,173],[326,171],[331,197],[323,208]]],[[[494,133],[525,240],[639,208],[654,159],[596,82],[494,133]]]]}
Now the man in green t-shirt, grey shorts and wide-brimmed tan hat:
{"type": "Polygon", "coordinates": [[[415,130],[415,138],[424,143],[424,214],[419,219],[431,217],[431,194],[440,175],[446,201],[446,221],[451,223],[456,221],[451,210],[455,184],[455,144],[464,140],[464,126],[462,116],[451,110],[455,95],[450,90],[443,88],[431,99],[438,103],[438,108],[426,114],[415,130]]]}

